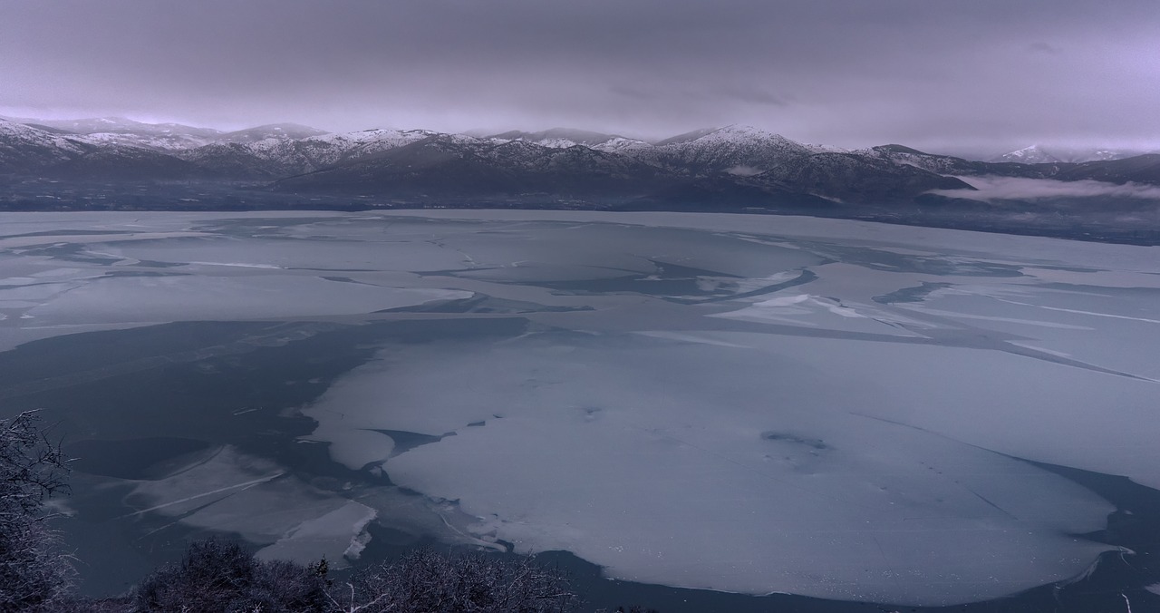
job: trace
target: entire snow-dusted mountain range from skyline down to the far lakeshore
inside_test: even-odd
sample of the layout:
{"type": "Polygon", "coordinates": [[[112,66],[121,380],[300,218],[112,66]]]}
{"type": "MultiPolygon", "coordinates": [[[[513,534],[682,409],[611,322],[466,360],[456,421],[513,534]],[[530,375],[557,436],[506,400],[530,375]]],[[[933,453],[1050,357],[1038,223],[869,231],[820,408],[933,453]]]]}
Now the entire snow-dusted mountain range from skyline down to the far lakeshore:
{"type": "Polygon", "coordinates": [[[970,218],[972,228],[1002,219],[1015,230],[1080,228],[1100,217],[1124,232],[1160,229],[1160,188],[1147,187],[1160,186],[1160,154],[991,163],[899,144],[811,145],[745,125],[655,143],[570,129],[325,134],[293,124],[216,132],[204,143],[204,134],[177,124],[68,125],[118,131],[0,120],[0,186],[9,192],[0,209],[730,210],[943,225],[970,218]],[[159,143],[159,134],[167,139],[159,143]]]}

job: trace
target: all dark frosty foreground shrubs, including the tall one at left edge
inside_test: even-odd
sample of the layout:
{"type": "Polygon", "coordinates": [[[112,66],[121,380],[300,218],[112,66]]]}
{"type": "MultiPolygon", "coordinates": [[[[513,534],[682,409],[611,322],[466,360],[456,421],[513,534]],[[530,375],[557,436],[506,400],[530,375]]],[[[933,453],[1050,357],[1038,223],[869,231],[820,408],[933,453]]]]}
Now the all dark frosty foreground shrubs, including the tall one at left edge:
{"type": "Polygon", "coordinates": [[[0,420],[2,612],[566,613],[581,606],[560,570],[529,557],[418,549],[339,580],[325,560],[258,560],[218,540],[191,543],[180,563],[154,570],[128,594],[75,598],[71,558],[45,512],[48,499],[67,489],[67,457],[35,413],[0,420]]]}

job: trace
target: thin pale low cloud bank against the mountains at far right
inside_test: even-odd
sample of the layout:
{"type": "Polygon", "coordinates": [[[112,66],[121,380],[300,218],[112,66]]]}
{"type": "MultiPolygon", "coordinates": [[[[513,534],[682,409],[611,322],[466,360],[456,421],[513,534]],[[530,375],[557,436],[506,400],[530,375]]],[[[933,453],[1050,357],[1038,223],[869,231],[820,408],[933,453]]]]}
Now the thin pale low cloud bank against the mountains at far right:
{"type": "Polygon", "coordinates": [[[991,202],[994,200],[1036,200],[1058,197],[1117,197],[1160,200],[1160,186],[1146,183],[1108,183],[1103,181],[1056,181],[1016,176],[957,176],[976,188],[931,189],[930,194],[991,202]]]}

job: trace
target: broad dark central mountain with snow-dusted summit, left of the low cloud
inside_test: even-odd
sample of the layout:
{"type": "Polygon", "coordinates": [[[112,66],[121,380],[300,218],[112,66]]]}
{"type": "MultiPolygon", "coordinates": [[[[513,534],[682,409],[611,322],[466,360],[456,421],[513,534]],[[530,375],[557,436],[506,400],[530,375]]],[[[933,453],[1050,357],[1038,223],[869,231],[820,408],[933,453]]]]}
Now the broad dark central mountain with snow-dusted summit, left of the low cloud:
{"type": "MultiPolygon", "coordinates": [[[[563,135],[506,132],[485,138],[432,135],[374,156],[283,179],[284,192],[438,199],[652,199],[660,202],[861,203],[907,200],[931,189],[971,189],[913,165],[809,146],[742,127],[698,131],[657,145],[618,137],[565,145],[563,135]],[[603,147],[614,149],[606,151],[603,147]]],[[[334,136],[322,137],[334,139],[334,136]]],[[[571,139],[570,139],[571,140],[571,139]]]]}

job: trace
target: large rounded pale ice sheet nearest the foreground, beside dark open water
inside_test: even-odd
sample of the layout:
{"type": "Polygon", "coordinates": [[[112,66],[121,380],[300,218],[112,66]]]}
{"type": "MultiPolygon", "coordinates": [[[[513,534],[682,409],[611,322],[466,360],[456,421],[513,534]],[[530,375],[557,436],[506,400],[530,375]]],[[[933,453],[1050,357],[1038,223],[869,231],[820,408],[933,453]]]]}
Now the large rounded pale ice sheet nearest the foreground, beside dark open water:
{"type": "Polygon", "coordinates": [[[392,481],[458,500],[480,535],[572,550],[618,578],[954,603],[1066,578],[1103,549],[1068,534],[1102,526],[1105,503],[865,413],[856,384],[793,358],[813,339],[761,354],[738,348],[752,334],[699,336],[719,342],[411,352],[326,403],[383,428],[454,432],[386,460],[392,481]]]}

